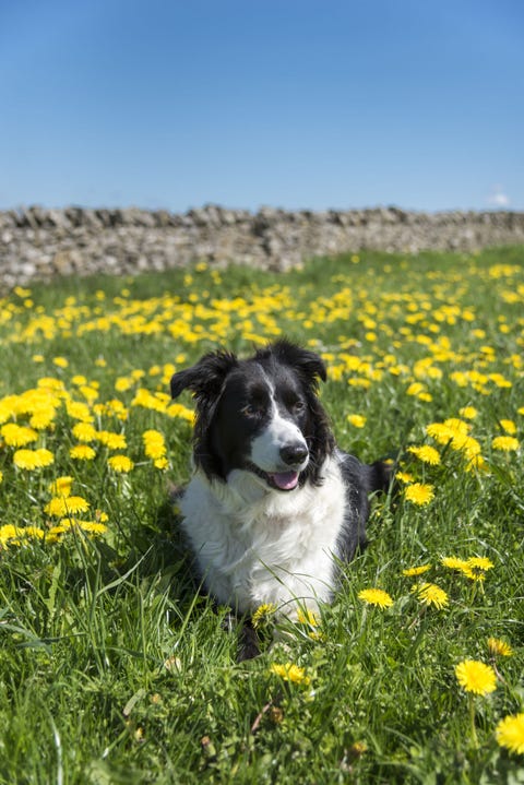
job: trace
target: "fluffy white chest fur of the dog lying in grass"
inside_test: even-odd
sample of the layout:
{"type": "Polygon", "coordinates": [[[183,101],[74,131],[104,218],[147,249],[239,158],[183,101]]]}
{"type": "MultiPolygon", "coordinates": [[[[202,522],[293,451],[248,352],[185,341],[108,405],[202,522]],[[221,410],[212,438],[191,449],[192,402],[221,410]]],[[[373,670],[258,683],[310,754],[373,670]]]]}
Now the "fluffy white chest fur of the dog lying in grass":
{"type": "Polygon", "coordinates": [[[196,469],[180,503],[182,527],[219,603],[240,614],[274,603],[295,617],[330,599],[345,507],[336,452],[322,475],[319,487],[283,493],[251,472],[235,469],[222,483],[196,469]]]}

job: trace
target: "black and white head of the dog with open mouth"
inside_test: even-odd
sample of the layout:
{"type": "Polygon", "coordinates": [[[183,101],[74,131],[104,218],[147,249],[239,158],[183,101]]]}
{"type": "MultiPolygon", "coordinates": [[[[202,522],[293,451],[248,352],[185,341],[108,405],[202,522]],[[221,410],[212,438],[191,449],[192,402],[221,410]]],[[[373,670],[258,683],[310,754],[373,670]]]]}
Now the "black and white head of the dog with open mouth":
{"type": "Polygon", "coordinates": [[[250,472],[267,488],[320,483],[334,447],[317,396],[325,366],[313,352],[278,341],[240,360],[205,355],[171,379],[171,395],[191,390],[196,402],[194,462],[209,478],[250,472]]]}

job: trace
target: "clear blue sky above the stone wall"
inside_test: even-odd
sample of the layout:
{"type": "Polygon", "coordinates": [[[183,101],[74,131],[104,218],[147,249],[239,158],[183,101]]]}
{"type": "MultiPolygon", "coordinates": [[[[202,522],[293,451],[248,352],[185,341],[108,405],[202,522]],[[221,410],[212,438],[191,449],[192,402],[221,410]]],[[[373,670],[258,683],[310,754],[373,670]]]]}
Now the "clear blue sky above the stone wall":
{"type": "Polygon", "coordinates": [[[0,209],[524,210],[523,0],[0,0],[0,209]]]}

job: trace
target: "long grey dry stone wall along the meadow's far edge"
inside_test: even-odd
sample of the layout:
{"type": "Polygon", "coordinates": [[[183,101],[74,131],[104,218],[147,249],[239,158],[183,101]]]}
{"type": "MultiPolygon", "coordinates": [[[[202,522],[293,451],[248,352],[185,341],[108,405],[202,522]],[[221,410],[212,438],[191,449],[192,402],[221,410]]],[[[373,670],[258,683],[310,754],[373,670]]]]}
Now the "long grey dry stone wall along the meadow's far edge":
{"type": "Polygon", "coordinates": [[[361,249],[473,251],[514,243],[524,243],[524,213],[27,207],[0,212],[0,288],[55,275],[134,274],[199,260],[284,271],[307,258],[361,249]]]}

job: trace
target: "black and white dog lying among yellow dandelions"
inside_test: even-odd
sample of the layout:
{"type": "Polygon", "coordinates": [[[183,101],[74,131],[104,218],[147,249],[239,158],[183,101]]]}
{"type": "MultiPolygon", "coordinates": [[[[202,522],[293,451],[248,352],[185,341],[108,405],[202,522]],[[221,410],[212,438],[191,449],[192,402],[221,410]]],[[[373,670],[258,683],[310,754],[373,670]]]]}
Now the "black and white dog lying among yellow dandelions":
{"type": "Polygon", "coordinates": [[[337,562],[365,544],[368,495],[389,469],[336,444],[317,396],[322,359],[287,341],[249,359],[205,355],[171,379],[193,392],[194,475],[182,527],[206,590],[238,614],[265,603],[294,618],[330,600],[337,562]]]}

